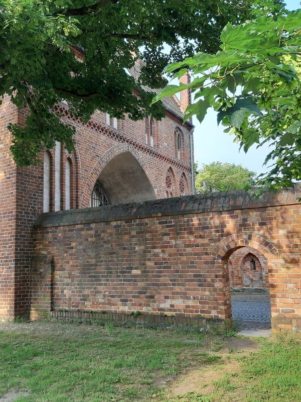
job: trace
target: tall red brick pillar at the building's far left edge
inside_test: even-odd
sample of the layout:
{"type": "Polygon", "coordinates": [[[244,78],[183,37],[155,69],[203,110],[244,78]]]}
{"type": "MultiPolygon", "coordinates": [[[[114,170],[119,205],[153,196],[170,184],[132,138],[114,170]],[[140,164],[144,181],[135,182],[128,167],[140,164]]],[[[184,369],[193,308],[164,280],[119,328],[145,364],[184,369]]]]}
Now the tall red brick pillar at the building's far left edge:
{"type": "Polygon", "coordinates": [[[26,115],[4,97],[0,107],[0,320],[28,316],[32,230],[43,212],[43,166],[20,168],[10,151],[8,124],[26,115]]]}

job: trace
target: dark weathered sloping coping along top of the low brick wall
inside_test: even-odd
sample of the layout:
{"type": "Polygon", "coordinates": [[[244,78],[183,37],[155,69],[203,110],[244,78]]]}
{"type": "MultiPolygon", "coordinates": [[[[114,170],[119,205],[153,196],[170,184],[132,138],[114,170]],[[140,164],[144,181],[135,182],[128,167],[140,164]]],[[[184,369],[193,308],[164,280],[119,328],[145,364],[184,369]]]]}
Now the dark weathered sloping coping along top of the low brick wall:
{"type": "Polygon", "coordinates": [[[301,197],[301,182],[293,188],[280,190],[277,193],[264,190],[259,197],[253,195],[252,191],[235,190],[154,199],[143,203],[50,212],[42,214],[37,219],[35,227],[298,205],[299,197],[301,197]]]}

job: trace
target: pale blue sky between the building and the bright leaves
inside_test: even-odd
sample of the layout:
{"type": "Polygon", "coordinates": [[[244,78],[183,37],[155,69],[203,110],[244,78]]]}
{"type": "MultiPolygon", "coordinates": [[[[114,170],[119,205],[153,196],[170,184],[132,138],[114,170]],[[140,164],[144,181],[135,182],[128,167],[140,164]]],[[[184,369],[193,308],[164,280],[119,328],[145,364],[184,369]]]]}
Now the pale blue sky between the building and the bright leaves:
{"type": "MultiPolygon", "coordinates": [[[[300,8],[300,0],[286,0],[289,10],[300,8]]],[[[258,174],[265,172],[266,167],[262,166],[268,147],[256,149],[253,145],[245,154],[243,150],[239,152],[239,145],[233,143],[233,136],[223,132],[223,126],[217,126],[216,112],[209,110],[202,124],[197,119],[193,120],[196,126],[194,131],[194,156],[195,161],[210,163],[214,161],[230,162],[241,164],[258,174]]]]}

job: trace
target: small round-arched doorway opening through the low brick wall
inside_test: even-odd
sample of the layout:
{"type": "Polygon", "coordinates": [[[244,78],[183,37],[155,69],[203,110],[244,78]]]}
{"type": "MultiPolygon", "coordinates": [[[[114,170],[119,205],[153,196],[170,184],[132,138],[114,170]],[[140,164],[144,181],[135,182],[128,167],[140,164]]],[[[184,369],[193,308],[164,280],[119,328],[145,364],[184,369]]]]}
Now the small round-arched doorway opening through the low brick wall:
{"type": "Polygon", "coordinates": [[[267,259],[252,247],[228,258],[233,324],[240,330],[269,330],[271,307],[267,259]]]}

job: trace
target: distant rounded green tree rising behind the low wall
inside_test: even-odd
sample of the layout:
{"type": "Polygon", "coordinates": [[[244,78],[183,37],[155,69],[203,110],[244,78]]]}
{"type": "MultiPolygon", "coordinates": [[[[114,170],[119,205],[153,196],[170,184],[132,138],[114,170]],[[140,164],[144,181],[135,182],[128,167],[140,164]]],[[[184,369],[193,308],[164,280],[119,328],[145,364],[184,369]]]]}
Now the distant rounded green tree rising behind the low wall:
{"type": "Polygon", "coordinates": [[[256,173],[234,163],[203,164],[195,178],[196,192],[238,190],[255,184],[256,173]]]}

